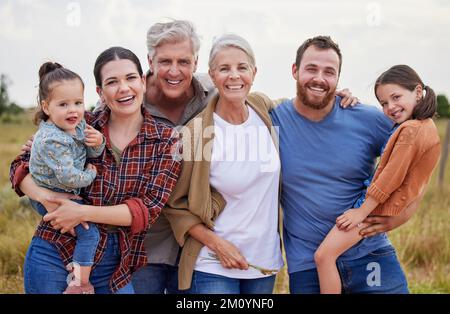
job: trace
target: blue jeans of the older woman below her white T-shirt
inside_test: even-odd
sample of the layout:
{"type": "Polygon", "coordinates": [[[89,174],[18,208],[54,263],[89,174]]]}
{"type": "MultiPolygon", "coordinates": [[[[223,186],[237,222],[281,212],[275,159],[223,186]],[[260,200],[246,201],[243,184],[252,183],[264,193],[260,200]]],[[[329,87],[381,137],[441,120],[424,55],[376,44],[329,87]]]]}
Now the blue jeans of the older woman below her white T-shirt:
{"type": "Polygon", "coordinates": [[[275,275],[237,279],[194,270],[190,294],[271,294],[275,275]]]}

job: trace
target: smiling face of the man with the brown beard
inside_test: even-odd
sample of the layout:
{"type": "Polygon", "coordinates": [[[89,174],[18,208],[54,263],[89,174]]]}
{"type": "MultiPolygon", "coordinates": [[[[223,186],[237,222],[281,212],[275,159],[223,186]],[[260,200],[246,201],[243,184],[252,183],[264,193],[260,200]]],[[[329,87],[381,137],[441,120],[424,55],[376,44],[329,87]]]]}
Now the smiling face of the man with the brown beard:
{"type": "Polygon", "coordinates": [[[312,109],[323,109],[334,102],[339,80],[339,56],[333,49],[310,46],[299,66],[292,66],[292,75],[297,81],[300,102],[312,109]]]}

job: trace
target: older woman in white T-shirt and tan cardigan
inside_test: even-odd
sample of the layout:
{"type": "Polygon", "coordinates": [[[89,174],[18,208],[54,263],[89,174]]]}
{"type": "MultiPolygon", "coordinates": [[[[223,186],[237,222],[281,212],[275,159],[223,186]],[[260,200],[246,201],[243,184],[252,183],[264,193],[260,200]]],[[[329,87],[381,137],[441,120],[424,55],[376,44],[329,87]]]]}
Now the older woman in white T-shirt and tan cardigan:
{"type": "Polygon", "coordinates": [[[272,293],[283,261],[271,101],[249,96],[256,66],[242,37],[218,38],[209,68],[218,95],[184,129],[182,173],[164,208],[183,247],[179,288],[272,293]]]}

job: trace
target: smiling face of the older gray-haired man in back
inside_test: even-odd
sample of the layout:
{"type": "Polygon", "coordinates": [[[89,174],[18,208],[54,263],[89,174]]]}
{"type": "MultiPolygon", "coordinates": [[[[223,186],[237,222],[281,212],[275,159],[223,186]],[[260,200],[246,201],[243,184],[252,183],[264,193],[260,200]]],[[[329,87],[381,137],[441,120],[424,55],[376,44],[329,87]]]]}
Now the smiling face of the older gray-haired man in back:
{"type": "Polygon", "coordinates": [[[169,99],[178,99],[189,93],[192,77],[197,68],[190,40],[165,43],[155,48],[150,68],[156,76],[157,86],[169,99]]]}

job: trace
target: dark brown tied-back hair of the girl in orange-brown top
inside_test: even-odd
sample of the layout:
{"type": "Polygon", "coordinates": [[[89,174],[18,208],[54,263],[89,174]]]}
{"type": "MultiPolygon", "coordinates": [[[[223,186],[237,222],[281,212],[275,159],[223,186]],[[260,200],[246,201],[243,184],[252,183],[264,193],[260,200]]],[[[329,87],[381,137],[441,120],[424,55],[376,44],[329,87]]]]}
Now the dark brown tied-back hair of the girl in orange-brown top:
{"type": "Polygon", "coordinates": [[[376,80],[374,91],[375,96],[378,98],[377,89],[380,85],[396,84],[409,91],[414,91],[417,85],[422,86],[425,90],[425,97],[422,96],[416,107],[413,110],[412,119],[425,120],[433,118],[436,114],[437,99],[434,90],[423,84],[422,79],[419,77],[416,71],[411,67],[399,64],[394,65],[389,70],[383,72],[376,80]]]}

